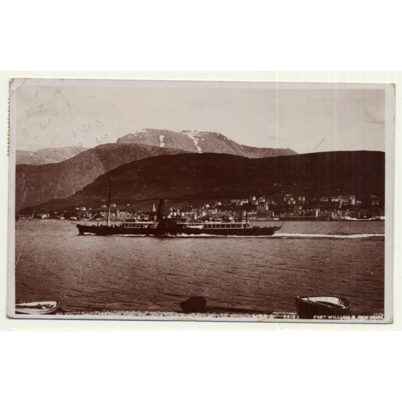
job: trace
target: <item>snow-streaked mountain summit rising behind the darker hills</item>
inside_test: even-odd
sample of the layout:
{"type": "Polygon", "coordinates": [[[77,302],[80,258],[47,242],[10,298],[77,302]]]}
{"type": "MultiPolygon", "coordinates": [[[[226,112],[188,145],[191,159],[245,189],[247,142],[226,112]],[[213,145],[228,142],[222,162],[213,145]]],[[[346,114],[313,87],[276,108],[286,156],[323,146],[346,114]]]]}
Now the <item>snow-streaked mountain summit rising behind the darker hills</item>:
{"type": "Polygon", "coordinates": [[[268,156],[295,155],[291,149],[255,148],[240,145],[219,133],[143,129],[128,134],[117,140],[118,144],[144,144],[161,148],[181,149],[198,153],[222,153],[245,156],[247,158],[265,158],[268,156]]]}

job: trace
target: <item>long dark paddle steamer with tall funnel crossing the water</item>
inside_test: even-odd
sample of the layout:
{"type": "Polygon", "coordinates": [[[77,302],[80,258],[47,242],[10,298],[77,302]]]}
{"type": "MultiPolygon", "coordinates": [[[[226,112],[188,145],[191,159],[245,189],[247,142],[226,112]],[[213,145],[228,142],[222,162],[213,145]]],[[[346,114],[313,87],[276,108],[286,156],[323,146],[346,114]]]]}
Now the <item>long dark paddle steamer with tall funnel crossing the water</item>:
{"type": "MultiPolygon", "coordinates": [[[[90,225],[82,222],[76,225],[80,235],[98,236],[272,236],[278,226],[273,227],[250,227],[248,219],[231,219],[222,221],[182,221],[180,218],[166,218],[163,215],[165,200],[159,200],[157,216],[150,217],[150,220],[138,221],[126,219],[120,225],[90,225]],[[153,219],[152,219],[153,218],[153,219]]],[[[110,216],[110,214],[109,214],[110,216]]]]}

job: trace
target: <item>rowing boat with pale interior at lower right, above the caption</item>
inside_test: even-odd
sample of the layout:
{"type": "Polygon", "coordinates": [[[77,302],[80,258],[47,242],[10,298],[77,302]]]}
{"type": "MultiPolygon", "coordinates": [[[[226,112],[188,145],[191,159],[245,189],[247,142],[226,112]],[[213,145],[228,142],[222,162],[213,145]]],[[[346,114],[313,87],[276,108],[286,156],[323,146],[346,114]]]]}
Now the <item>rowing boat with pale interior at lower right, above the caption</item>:
{"type": "Polygon", "coordinates": [[[302,319],[317,316],[345,316],[349,313],[349,300],[336,296],[297,296],[297,314],[302,319]]]}

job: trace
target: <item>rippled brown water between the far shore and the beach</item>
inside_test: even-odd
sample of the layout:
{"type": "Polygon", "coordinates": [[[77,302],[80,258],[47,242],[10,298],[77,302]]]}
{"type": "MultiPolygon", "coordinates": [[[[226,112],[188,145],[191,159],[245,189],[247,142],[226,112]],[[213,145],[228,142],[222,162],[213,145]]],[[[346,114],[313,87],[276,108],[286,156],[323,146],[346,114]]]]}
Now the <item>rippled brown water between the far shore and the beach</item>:
{"type": "MultiPolygon", "coordinates": [[[[278,222],[255,222],[271,226],[278,222]]],[[[78,236],[63,221],[16,222],[16,300],[65,310],[294,312],[297,295],[340,295],[384,312],[384,222],[285,222],[272,237],[78,236]]]]}

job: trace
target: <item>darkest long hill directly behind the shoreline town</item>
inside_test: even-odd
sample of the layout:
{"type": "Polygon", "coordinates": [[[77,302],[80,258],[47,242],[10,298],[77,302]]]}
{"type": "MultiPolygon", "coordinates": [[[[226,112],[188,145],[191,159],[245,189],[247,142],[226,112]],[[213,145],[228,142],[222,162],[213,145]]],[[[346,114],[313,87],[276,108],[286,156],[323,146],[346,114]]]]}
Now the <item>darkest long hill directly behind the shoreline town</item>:
{"type": "Polygon", "coordinates": [[[292,193],[354,194],[382,199],[383,152],[324,152],[249,159],[234,155],[162,155],[130,162],[104,174],[74,195],[42,207],[95,206],[107,198],[110,176],[115,203],[134,204],[163,197],[170,200],[239,198],[292,193]]]}

